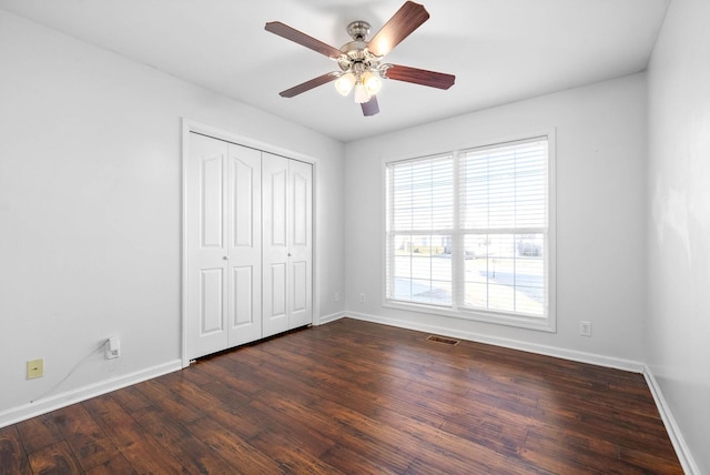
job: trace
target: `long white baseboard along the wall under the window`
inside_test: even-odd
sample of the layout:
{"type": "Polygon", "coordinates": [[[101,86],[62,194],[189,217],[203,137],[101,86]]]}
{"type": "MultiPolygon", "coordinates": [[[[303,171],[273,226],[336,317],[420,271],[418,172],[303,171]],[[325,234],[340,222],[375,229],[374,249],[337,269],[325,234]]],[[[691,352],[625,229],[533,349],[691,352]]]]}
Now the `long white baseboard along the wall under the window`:
{"type": "Polygon", "coordinates": [[[579,363],[589,363],[597,366],[612,367],[615,370],[623,370],[632,373],[643,373],[643,363],[632,360],[616,358],[610,356],[598,355],[594,353],[578,352],[574,350],[559,348],[556,346],[539,345],[536,343],[527,343],[518,340],[499,338],[495,336],[486,336],[475,332],[457,331],[444,326],[428,325],[423,323],[414,323],[405,320],[388,319],[377,315],[369,315],[357,312],[346,312],[345,316],[349,316],[366,322],[382,323],[384,325],[398,326],[400,329],[416,330],[419,332],[436,333],[442,336],[468,340],[477,343],[485,343],[494,346],[503,346],[511,350],[519,350],[528,353],[537,353],[546,356],[559,357],[562,360],[576,361],[579,363]]]}

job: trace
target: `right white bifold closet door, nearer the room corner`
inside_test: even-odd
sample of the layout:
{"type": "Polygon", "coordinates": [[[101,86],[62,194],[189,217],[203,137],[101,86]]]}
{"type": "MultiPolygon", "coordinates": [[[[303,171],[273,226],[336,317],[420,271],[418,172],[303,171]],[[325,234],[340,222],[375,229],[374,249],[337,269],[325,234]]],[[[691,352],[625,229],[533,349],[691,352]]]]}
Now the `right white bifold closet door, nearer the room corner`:
{"type": "Polygon", "coordinates": [[[263,336],[313,321],[313,171],[263,153],[263,336]]]}

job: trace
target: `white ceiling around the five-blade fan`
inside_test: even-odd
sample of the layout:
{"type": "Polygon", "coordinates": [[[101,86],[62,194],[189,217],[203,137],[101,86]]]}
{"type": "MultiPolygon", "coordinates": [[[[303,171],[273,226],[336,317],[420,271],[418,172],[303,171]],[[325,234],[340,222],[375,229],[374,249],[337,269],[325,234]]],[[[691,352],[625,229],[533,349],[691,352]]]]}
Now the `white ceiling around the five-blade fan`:
{"type": "Polygon", "coordinates": [[[347,142],[643,71],[669,0],[422,0],[430,18],[386,62],[456,75],[448,91],[385,81],[381,113],[332,84],[337,65],[266,32],[278,20],[335,48],[404,0],[0,0],[0,9],[347,142]]]}

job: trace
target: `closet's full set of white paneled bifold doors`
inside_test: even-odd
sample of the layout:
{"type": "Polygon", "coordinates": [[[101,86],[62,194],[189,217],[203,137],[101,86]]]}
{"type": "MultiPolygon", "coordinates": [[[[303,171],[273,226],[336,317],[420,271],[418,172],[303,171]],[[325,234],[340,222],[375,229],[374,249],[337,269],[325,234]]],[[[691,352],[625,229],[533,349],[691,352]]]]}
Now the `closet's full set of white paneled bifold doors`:
{"type": "Polygon", "coordinates": [[[190,132],[184,173],[187,357],[310,324],[312,165],[190,132]]]}

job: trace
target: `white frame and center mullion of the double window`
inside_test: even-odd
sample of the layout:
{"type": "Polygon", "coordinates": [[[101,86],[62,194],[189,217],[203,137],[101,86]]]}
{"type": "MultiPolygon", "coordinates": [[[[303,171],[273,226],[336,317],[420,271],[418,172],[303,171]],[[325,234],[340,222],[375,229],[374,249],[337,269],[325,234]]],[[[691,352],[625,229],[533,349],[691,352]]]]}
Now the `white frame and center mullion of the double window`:
{"type": "MultiPolygon", "coordinates": [[[[405,156],[384,156],[382,159],[382,195],[384,196],[382,201],[382,223],[383,223],[383,236],[382,236],[382,276],[383,276],[383,286],[382,286],[382,304],[387,309],[396,309],[404,310],[409,312],[418,312],[426,313],[433,315],[442,315],[447,317],[463,319],[468,321],[476,322],[485,322],[485,323],[494,323],[499,325],[515,326],[520,329],[529,329],[529,330],[538,330],[544,332],[555,333],[557,331],[557,312],[556,312],[556,137],[555,129],[547,130],[537,133],[528,133],[528,134],[519,134],[516,137],[506,138],[504,140],[488,140],[481,141],[479,143],[469,144],[467,146],[457,146],[453,151],[444,151],[444,152],[434,152],[427,154],[409,154],[405,156]],[[408,161],[417,161],[417,160],[427,160],[427,159],[436,159],[437,156],[445,155],[463,155],[466,152],[475,151],[475,150],[484,150],[489,148],[501,148],[510,144],[515,144],[516,142],[524,143],[535,140],[547,140],[547,249],[545,250],[547,256],[547,315],[546,316],[534,316],[526,315],[523,313],[508,313],[505,311],[489,310],[489,309],[479,309],[479,307],[468,307],[464,306],[463,302],[456,301],[456,295],[464,286],[464,282],[462,281],[464,270],[464,259],[463,259],[463,249],[454,249],[454,252],[457,252],[458,255],[452,255],[452,285],[457,286],[458,291],[453,294],[452,305],[442,305],[442,304],[427,304],[427,303],[416,303],[416,302],[406,302],[399,300],[389,300],[387,296],[387,289],[392,285],[388,282],[388,256],[389,250],[387,246],[389,245],[389,226],[388,226],[388,201],[390,199],[388,194],[388,183],[387,183],[387,170],[388,166],[393,163],[397,162],[408,162],[408,161]],[[459,306],[460,304],[460,306],[459,306]]],[[[458,163],[458,159],[454,158],[455,163],[458,163]]],[[[459,168],[454,166],[454,180],[458,181],[459,168]]],[[[455,189],[457,190],[457,188],[455,189]]],[[[456,192],[455,192],[456,194],[456,192]]],[[[456,220],[458,216],[458,206],[459,200],[456,198],[454,200],[454,213],[456,214],[456,220]]],[[[464,231],[460,229],[458,224],[454,225],[454,233],[460,234],[460,239],[463,240],[468,231],[464,231]]],[[[455,241],[454,234],[452,235],[455,241]]]]}

